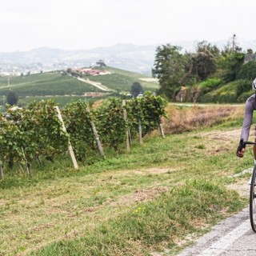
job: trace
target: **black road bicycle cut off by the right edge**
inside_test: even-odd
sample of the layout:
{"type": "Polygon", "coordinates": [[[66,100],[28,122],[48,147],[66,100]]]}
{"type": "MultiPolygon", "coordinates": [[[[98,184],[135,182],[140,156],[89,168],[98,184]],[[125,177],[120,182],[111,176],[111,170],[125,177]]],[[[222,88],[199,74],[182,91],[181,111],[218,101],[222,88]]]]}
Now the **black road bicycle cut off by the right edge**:
{"type": "MultiPolygon", "coordinates": [[[[241,152],[242,148],[246,148],[246,145],[256,145],[256,142],[244,142],[240,141],[238,146],[238,152],[241,152]]],[[[254,165],[254,170],[250,179],[250,204],[249,204],[249,213],[250,213],[250,226],[252,230],[256,233],[256,165],[254,165]]]]}

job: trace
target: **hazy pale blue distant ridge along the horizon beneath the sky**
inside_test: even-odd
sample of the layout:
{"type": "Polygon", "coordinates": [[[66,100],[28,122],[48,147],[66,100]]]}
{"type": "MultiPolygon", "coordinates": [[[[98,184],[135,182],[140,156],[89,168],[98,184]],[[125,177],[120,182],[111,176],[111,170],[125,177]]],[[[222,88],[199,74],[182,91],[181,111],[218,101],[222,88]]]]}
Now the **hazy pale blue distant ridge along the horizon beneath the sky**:
{"type": "MultiPolygon", "coordinates": [[[[210,42],[223,49],[226,41],[210,42]]],[[[181,46],[183,50],[194,52],[197,41],[170,42],[171,45],[181,46]]],[[[26,72],[26,70],[57,70],[74,66],[94,66],[98,59],[103,59],[106,65],[122,70],[142,74],[151,74],[154,65],[155,51],[159,43],[149,46],[134,44],[117,44],[114,46],[97,47],[90,50],[61,50],[48,47],[36,48],[29,51],[0,52],[0,71],[26,72]]],[[[256,50],[256,41],[240,41],[242,50],[256,50]]]]}

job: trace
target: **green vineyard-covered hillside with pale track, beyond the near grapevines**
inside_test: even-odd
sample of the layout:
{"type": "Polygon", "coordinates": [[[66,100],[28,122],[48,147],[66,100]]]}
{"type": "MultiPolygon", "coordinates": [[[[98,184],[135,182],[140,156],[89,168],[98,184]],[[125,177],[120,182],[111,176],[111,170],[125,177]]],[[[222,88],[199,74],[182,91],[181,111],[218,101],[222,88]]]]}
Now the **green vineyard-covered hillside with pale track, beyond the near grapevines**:
{"type": "Polygon", "coordinates": [[[129,93],[134,82],[140,82],[144,90],[157,90],[158,82],[146,75],[106,67],[105,75],[66,74],[63,70],[24,76],[0,77],[0,105],[6,103],[6,95],[13,90],[20,104],[34,100],[54,98],[65,105],[79,98],[106,98],[117,93],[129,93]]]}

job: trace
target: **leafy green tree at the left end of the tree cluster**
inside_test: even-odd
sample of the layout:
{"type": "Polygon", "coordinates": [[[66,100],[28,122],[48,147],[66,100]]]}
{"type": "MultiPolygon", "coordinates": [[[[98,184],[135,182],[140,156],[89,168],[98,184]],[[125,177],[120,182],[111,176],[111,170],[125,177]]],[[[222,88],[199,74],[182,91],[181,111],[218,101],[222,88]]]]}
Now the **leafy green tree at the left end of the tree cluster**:
{"type": "Polygon", "coordinates": [[[190,54],[181,54],[178,46],[158,46],[152,75],[160,83],[159,94],[175,99],[180,86],[187,82],[191,69],[190,54]]]}

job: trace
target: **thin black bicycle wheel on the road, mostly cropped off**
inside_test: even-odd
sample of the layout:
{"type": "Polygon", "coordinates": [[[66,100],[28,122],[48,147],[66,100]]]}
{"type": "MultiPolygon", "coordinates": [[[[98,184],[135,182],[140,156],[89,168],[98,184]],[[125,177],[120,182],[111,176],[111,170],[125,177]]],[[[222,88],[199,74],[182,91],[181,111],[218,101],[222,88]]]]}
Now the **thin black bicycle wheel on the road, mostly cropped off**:
{"type": "Polygon", "coordinates": [[[250,181],[250,225],[256,233],[256,165],[250,181]]]}

